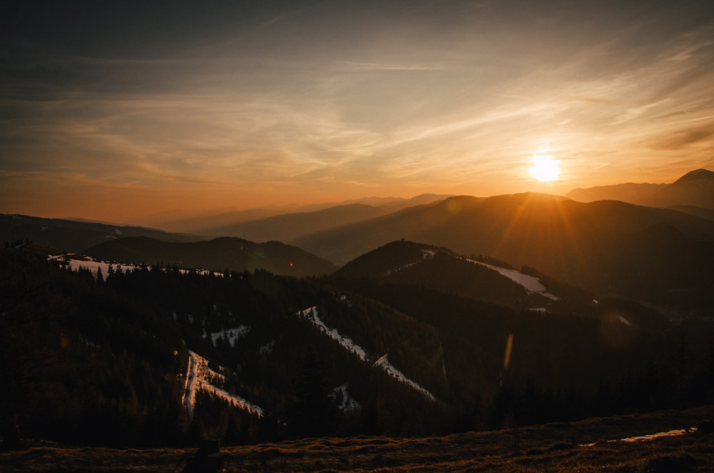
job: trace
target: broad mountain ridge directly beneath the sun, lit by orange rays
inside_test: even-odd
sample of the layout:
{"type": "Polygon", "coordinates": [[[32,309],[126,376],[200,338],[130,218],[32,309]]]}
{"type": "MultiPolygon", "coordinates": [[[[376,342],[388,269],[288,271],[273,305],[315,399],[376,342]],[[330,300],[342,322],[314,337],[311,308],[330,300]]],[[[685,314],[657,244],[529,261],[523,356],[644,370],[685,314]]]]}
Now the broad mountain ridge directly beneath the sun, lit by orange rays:
{"type": "Polygon", "coordinates": [[[547,194],[451,197],[291,242],[338,264],[406,238],[535,267],[595,292],[704,304],[714,287],[714,221],[620,201],[547,194]]]}

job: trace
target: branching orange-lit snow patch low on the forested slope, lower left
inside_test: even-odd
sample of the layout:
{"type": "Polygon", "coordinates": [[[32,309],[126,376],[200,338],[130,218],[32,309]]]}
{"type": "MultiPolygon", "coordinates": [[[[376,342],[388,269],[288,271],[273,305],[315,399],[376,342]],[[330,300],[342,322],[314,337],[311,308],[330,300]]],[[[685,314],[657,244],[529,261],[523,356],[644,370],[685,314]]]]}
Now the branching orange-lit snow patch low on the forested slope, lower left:
{"type": "Polygon", "coordinates": [[[228,403],[238,407],[238,409],[243,409],[244,411],[255,414],[258,417],[263,417],[264,412],[261,407],[246,401],[246,399],[243,399],[242,397],[231,394],[225,389],[221,389],[211,384],[211,380],[223,380],[225,377],[223,374],[214,372],[213,369],[209,368],[208,360],[194,352],[191,352],[191,350],[188,350],[188,356],[186,387],[183,392],[183,399],[181,399],[181,403],[188,411],[189,417],[193,416],[193,406],[196,405],[196,392],[198,392],[199,389],[203,389],[203,391],[209,392],[213,394],[213,396],[225,399],[228,403]]]}

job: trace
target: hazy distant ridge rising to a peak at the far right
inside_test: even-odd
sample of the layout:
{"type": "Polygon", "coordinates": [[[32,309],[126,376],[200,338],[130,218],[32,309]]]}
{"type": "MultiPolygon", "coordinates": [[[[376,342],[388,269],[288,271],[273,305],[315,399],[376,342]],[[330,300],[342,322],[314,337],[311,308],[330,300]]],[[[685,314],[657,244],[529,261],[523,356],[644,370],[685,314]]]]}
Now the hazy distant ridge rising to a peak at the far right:
{"type": "Polygon", "coordinates": [[[628,182],[612,186],[573,189],[565,196],[581,202],[619,200],[647,206],[695,206],[714,209],[714,171],[695,169],[672,184],[628,182]]]}

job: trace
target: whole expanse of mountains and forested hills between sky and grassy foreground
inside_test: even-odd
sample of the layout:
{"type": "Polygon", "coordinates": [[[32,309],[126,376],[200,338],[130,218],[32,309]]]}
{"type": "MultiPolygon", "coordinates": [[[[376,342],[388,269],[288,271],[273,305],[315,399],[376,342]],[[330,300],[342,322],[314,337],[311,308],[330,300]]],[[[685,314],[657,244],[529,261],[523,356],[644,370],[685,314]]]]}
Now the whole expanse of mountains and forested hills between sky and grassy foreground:
{"type": "Polygon", "coordinates": [[[239,224],[286,243],[3,216],[2,447],[433,436],[714,402],[714,221],[432,198],[239,224]]]}

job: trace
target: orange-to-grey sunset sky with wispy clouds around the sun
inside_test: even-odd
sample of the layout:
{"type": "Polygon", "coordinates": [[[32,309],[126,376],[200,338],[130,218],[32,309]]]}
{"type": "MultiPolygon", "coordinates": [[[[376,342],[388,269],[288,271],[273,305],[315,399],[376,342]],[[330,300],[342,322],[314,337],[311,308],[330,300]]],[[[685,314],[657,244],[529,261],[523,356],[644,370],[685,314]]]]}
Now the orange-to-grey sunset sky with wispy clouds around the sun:
{"type": "Polygon", "coordinates": [[[0,212],[122,221],[714,169],[714,2],[4,1],[0,212]],[[558,161],[540,183],[533,160],[558,161]]]}

